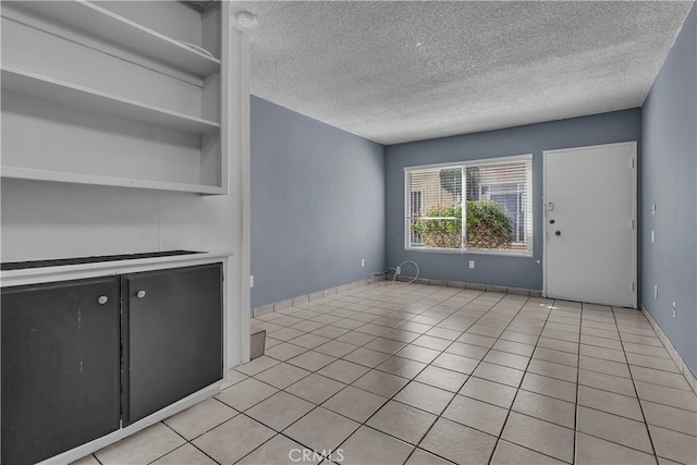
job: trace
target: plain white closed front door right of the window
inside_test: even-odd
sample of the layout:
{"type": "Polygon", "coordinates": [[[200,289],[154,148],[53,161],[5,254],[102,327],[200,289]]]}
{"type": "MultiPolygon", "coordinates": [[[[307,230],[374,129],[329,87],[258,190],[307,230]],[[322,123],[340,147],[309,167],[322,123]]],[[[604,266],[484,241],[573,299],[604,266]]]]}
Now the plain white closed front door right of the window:
{"type": "Polygon", "coordinates": [[[636,307],[636,143],[542,152],[545,294],[636,307]]]}

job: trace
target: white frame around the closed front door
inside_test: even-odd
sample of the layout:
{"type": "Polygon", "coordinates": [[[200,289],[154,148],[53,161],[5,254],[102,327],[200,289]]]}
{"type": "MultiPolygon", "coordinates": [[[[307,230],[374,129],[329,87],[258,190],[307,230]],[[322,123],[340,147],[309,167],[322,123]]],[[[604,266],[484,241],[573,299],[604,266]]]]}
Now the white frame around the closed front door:
{"type": "Polygon", "coordinates": [[[547,160],[550,154],[560,154],[565,151],[578,151],[587,149],[597,149],[600,147],[613,147],[613,146],[629,146],[632,147],[632,308],[637,308],[637,292],[638,292],[638,269],[637,269],[637,230],[639,228],[637,222],[637,143],[636,140],[621,142],[613,144],[598,144],[582,147],[568,147],[561,149],[542,150],[542,296],[548,297],[547,294],[547,181],[548,170],[547,160]]]}

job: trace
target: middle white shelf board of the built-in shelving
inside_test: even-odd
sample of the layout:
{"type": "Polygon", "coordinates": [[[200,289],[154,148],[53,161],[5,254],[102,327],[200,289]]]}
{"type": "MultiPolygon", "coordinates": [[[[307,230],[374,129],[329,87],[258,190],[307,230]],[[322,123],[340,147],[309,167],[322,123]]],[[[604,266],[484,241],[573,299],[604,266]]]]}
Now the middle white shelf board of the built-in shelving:
{"type": "Polygon", "coordinates": [[[16,94],[44,98],[66,107],[111,114],[189,134],[206,135],[220,130],[220,124],[213,121],[144,105],[137,100],[115,97],[20,70],[2,70],[2,88],[16,94]]]}

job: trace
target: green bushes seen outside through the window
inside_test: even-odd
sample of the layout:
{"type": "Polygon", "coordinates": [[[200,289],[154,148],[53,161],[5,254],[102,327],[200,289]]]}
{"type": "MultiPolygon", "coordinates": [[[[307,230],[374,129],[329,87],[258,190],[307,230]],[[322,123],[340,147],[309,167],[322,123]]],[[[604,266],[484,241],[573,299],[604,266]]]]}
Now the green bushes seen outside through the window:
{"type": "MultiPolygon", "coordinates": [[[[426,217],[416,220],[412,230],[421,236],[424,245],[433,248],[462,247],[462,207],[435,206],[426,209],[426,217]],[[428,217],[449,219],[431,220],[428,217]]],[[[511,217],[492,200],[467,201],[467,248],[511,248],[513,233],[511,217]]]]}

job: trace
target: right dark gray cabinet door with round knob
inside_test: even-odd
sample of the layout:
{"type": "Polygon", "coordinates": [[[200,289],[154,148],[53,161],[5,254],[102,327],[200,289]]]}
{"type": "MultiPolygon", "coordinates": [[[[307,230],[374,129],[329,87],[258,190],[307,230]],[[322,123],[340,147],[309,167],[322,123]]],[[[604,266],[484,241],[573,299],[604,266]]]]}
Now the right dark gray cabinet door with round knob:
{"type": "Polygon", "coordinates": [[[126,274],[124,425],[222,379],[221,264],[126,274]]]}

